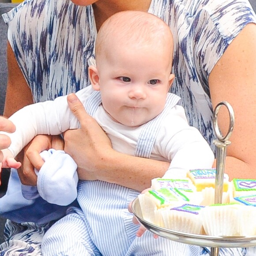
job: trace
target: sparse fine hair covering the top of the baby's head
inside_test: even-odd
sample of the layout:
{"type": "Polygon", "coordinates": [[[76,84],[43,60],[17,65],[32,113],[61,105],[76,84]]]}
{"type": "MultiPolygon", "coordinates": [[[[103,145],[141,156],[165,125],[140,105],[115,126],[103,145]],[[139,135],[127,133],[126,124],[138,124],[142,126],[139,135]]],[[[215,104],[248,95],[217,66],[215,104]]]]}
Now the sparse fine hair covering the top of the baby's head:
{"type": "Polygon", "coordinates": [[[103,23],[96,40],[96,63],[101,56],[116,53],[116,48],[133,51],[144,49],[152,51],[162,48],[164,55],[173,57],[172,33],[157,16],[142,11],[122,11],[111,16],[103,23]]]}

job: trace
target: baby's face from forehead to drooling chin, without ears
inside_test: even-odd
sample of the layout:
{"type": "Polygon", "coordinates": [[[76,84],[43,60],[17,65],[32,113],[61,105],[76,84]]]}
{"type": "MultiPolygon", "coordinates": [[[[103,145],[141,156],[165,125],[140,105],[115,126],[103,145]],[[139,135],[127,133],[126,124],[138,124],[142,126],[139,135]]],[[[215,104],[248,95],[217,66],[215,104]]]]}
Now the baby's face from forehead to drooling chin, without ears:
{"type": "Polygon", "coordinates": [[[102,105],[117,122],[139,126],[162,112],[174,75],[170,54],[158,48],[113,47],[97,60],[102,105]]]}

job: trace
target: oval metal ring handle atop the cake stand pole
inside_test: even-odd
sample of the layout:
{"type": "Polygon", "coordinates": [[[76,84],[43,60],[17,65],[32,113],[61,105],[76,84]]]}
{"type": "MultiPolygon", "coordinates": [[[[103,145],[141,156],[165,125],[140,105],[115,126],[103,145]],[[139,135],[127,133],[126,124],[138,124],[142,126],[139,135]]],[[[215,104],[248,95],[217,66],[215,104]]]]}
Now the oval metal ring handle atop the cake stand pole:
{"type": "Polygon", "coordinates": [[[233,111],[233,108],[230,105],[230,103],[226,102],[226,101],[219,102],[214,110],[214,113],[213,113],[213,128],[214,128],[215,134],[217,136],[217,139],[219,141],[225,142],[226,140],[228,140],[230,138],[230,136],[233,132],[234,121],[235,121],[235,115],[234,115],[234,111],[233,111]],[[228,130],[226,136],[222,136],[222,133],[220,132],[220,130],[218,128],[217,116],[218,116],[218,111],[222,107],[222,105],[226,106],[226,108],[228,109],[229,115],[230,115],[230,125],[229,125],[229,130],[228,130]]]}

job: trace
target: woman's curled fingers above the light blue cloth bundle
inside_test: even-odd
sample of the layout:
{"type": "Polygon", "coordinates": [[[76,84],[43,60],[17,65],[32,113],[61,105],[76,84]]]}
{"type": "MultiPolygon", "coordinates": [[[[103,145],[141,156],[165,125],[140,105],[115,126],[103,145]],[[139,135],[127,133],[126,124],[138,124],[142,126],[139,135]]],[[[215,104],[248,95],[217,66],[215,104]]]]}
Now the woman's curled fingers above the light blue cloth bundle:
{"type": "Polygon", "coordinates": [[[38,135],[36,136],[18,155],[17,159],[23,165],[18,169],[19,178],[22,184],[35,186],[37,184],[37,175],[34,168],[40,170],[44,164],[40,153],[44,150],[54,148],[56,150],[64,149],[64,141],[60,136],[38,135]],[[25,152],[25,154],[23,154],[25,152]]]}

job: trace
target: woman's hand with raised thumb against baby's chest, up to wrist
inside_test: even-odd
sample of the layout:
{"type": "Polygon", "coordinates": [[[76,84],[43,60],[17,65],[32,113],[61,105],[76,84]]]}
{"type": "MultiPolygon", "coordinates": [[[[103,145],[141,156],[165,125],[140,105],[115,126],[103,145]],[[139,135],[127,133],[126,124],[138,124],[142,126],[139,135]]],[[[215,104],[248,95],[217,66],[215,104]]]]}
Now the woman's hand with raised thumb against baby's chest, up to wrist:
{"type": "Polygon", "coordinates": [[[96,120],[87,114],[75,94],[68,95],[68,105],[81,128],[64,132],[64,151],[78,165],[80,179],[104,181],[105,159],[113,153],[110,140],[96,120]]]}

